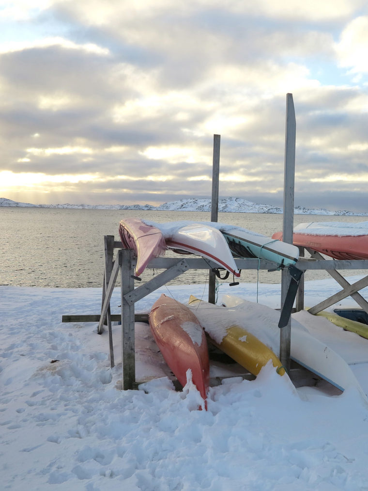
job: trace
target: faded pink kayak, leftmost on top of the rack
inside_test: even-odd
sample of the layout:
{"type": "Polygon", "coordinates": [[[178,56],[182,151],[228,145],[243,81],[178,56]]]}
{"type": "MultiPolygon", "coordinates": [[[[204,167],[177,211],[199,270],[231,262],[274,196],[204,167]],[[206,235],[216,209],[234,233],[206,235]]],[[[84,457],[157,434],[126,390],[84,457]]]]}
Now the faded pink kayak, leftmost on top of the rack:
{"type": "Polygon", "coordinates": [[[120,239],[125,249],[133,249],[137,257],[135,274],[140,276],[154,257],[165,253],[166,244],[158,228],[147,225],[139,218],[121,220],[120,239]]]}

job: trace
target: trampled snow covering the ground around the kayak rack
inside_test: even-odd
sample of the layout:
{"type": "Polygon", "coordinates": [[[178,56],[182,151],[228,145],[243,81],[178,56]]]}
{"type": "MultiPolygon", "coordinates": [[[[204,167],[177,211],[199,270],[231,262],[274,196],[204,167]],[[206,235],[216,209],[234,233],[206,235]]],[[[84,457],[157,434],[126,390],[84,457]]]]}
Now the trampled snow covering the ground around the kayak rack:
{"type": "MultiPolygon", "coordinates": [[[[169,289],[140,300],[136,311],[148,312],[161,293],[185,303],[190,294],[207,295],[204,285],[169,289]]],[[[256,301],[255,284],[219,289],[256,301]]],[[[306,282],[306,305],[339,289],[333,280],[306,282]]],[[[354,387],[341,395],[323,384],[295,389],[266,366],[254,381],[236,377],[212,387],[208,411],[195,410],[190,377],[183,392],[165,377],[120,390],[121,326],[113,326],[111,369],[108,336],[97,334],[97,323],[61,323],[63,314],[98,313],[100,289],[1,286],[0,297],[1,489],[368,489],[368,406],[354,387]]],[[[280,286],[262,284],[258,297],[278,307],[280,286]]],[[[115,289],[113,313],[119,305],[115,289]]],[[[297,320],[314,335],[333,339],[344,356],[348,348],[350,361],[361,357],[367,340],[330,324],[326,332],[322,317],[312,323],[309,315],[306,326],[304,314],[297,320]]],[[[137,372],[152,370],[154,360],[160,376],[165,365],[149,327],[136,323],[136,332],[137,372]]],[[[368,379],[367,362],[353,366],[368,379]]]]}

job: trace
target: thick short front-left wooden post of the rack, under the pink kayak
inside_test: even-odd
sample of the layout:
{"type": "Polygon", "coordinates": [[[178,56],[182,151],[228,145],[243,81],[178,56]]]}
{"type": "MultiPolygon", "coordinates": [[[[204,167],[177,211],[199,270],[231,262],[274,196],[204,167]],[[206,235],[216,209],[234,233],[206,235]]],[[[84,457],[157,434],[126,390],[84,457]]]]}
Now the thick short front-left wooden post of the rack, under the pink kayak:
{"type": "Polygon", "coordinates": [[[131,249],[119,250],[121,265],[121,335],[123,360],[123,389],[133,388],[135,382],[134,303],[125,299],[126,293],[134,290],[134,262],[131,249]]]}

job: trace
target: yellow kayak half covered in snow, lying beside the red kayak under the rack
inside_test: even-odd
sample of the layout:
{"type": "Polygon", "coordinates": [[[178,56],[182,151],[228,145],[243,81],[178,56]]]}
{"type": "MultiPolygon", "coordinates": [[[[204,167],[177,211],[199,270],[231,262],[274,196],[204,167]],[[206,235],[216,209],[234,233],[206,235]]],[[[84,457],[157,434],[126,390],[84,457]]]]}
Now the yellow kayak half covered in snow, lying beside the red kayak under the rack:
{"type": "Polygon", "coordinates": [[[193,295],[189,298],[188,307],[205,329],[210,342],[250,373],[258,375],[262,367],[272,360],[277,373],[284,375],[285,368],[278,356],[236,322],[235,317],[231,315],[234,309],[213,305],[193,295]]]}

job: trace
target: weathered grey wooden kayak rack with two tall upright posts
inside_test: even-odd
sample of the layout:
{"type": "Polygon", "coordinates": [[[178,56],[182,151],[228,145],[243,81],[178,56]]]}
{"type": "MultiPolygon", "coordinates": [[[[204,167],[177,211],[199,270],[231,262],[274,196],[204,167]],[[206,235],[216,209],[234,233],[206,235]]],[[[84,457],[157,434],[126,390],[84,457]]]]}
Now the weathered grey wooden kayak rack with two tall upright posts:
{"type": "MultiPolygon", "coordinates": [[[[285,166],[284,166],[284,211],[283,211],[283,241],[292,244],[293,218],[294,218],[294,177],[295,177],[295,135],[296,121],[292,94],[287,94],[286,99],[286,128],[285,128],[285,166]]],[[[212,165],[212,202],[211,221],[217,221],[218,212],[218,184],[219,184],[219,158],[220,135],[213,136],[213,165],[212,165]]],[[[334,260],[324,259],[318,252],[312,249],[299,247],[300,256],[296,267],[305,272],[307,270],[325,270],[341,286],[342,290],[328,299],[325,299],[309,309],[311,314],[316,314],[334,303],[351,296],[367,313],[368,302],[358,293],[368,286],[368,275],[354,284],[350,284],[337,270],[368,270],[368,260],[334,260]],[[310,258],[305,258],[305,250],[310,258]]],[[[269,261],[258,258],[236,259],[237,267],[241,270],[273,270],[275,265],[269,261]]],[[[209,301],[214,303],[214,263],[200,257],[163,258],[152,260],[148,268],[163,269],[146,283],[134,288],[135,259],[133,251],[123,249],[120,241],[115,241],[114,236],[105,236],[105,275],[102,296],[102,309],[100,315],[95,316],[63,316],[63,322],[96,322],[99,321],[98,332],[101,334],[104,324],[107,324],[110,345],[110,362],[114,366],[112,346],[110,299],[118,274],[121,276],[121,324],[122,324],[122,363],[123,363],[123,389],[135,388],[135,350],[134,350],[134,322],[139,320],[134,313],[136,301],[165,285],[188,269],[210,269],[209,276],[209,301]],[[114,258],[114,249],[118,249],[114,258]],[[83,319],[83,320],[82,320],[83,319]]],[[[288,269],[281,272],[281,309],[287,304],[286,298],[291,282],[288,269]]],[[[296,294],[296,311],[304,308],[304,274],[302,274],[296,294]]],[[[291,321],[280,329],[280,360],[289,371],[290,378],[295,384],[294,368],[290,363],[290,339],[291,321]]],[[[311,375],[311,373],[310,373],[311,375]]],[[[315,376],[313,375],[315,378],[315,376]]],[[[211,381],[212,382],[212,381],[211,381]]],[[[215,381],[214,381],[215,382],[215,381]]]]}

